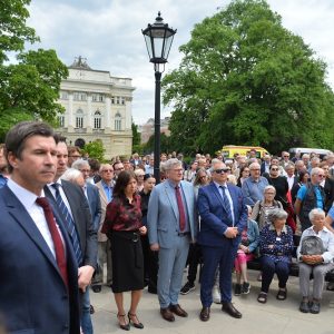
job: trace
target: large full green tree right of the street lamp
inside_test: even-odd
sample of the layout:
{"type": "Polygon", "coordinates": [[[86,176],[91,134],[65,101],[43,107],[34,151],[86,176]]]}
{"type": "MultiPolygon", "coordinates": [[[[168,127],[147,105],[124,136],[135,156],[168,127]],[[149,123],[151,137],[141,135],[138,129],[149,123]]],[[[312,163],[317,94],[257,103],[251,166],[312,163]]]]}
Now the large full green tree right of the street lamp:
{"type": "Polygon", "coordinates": [[[236,0],[195,26],[163,80],[170,141],[186,154],[223,145],[334,146],[326,65],[264,0],[236,0]]]}

